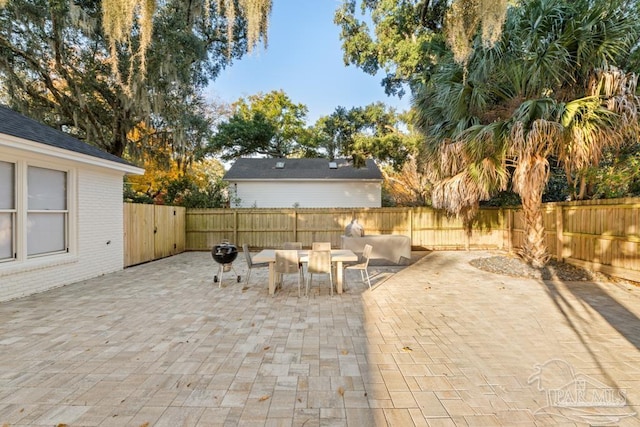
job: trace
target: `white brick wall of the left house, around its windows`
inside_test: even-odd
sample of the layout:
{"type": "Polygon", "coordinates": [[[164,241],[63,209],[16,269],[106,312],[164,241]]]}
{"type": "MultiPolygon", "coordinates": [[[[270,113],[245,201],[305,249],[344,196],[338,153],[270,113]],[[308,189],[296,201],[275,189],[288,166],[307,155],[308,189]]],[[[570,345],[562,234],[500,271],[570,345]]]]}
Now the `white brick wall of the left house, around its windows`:
{"type": "Polygon", "coordinates": [[[123,268],[124,172],[14,150],[7,161],[46,162],[69,173],[69,253],[0,263],[0,301],[43,292],[123,268]],[[109,242],[109,243],[107,243],[109,242]]]}

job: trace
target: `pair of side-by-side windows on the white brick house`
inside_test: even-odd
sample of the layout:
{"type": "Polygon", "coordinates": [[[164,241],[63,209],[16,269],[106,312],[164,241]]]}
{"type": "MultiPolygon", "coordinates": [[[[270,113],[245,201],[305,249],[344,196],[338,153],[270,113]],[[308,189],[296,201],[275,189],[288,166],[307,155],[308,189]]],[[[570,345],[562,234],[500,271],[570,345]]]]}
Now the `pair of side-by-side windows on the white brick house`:
{"type": "Polygon", "coordinates": [[[68,252],[69,173],[0,161],[0,262],[68,252]]]}

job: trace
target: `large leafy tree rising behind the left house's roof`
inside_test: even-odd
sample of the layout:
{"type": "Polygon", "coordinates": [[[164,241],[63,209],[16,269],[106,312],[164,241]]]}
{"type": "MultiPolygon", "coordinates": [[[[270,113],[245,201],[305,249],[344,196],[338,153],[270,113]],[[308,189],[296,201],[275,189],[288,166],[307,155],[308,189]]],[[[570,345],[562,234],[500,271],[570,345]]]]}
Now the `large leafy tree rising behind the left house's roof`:
{"type": "Polygon", "coordinates": [[[242,15],[228,51],[229,23],[215,8],[201,13],[202,6],[177,0],[158,5],[145,79],[131,54],[140,34],[110,52],[98,0],[9,0],[0,9],[5,102],[118,156],[159,133],[177,151],[189,150],[191,133],[202,129],[194,123],[201,89],[247,50],[242,15]],[[112,72],[112,53],[126,87],[112,72]]]}

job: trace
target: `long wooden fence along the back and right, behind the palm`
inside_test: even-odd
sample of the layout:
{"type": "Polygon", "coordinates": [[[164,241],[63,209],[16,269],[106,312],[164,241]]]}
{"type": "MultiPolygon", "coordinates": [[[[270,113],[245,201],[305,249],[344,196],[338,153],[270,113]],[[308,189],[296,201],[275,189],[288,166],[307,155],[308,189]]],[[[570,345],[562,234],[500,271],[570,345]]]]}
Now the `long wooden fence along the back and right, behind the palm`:
{"type": "MultiPolygon", "coordinates": [[[[640,281],[640,198],[547,203],[545,240],[558,260],[640,281]]],[[[486,208],[465,230],[462,221],[430,208],[189,209],[186,249],[210,250],[224,240],[252,248],[285,241],[340,246],[352,218],[366,234],[403,234],[414,249],[503,249],[518,251],[524,238],[519,209],[486,208]]]]}

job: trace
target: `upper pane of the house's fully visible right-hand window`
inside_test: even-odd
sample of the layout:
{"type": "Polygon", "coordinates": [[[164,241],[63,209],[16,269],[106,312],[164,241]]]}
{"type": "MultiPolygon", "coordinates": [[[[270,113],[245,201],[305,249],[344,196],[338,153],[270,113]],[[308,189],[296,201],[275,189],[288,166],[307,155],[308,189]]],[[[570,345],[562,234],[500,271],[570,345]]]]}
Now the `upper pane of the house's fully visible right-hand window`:
{"type": "Polygon", "coordinates": [[[29,167],[29,210],[66,210],[67,173],[29,167]]]}

